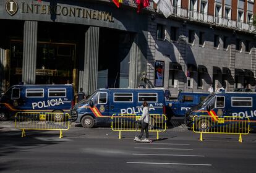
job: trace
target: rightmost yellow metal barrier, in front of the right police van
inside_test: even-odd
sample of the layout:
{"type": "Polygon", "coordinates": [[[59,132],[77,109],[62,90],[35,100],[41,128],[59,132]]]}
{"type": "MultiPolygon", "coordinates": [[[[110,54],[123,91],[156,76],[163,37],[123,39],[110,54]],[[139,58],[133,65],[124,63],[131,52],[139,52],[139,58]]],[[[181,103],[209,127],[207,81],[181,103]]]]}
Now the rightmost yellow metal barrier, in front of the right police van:
{"type": "Polygon", "coordinates": [[[242,142],[242,135],[250,132],[250,120],[248,117],[194,116],[193,131],[200,133],[200,141],[203,140],[203,133],[215,133],[239,135],[239,142],[242,142]]]}

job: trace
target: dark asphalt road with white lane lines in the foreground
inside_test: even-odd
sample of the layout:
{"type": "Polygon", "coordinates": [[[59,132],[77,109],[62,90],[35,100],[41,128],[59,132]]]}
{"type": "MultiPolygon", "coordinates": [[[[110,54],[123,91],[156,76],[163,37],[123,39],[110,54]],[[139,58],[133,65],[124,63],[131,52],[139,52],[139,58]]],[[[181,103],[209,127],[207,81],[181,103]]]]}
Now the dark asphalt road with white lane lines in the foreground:
{"type": "MultiPolygon", "coordinates": [[[[135,143],[135,133],[108,127],[72,127],[59,132],[27,132],[0,123],[0,172],[255,172],[256,133],[199,135],[179,126],[161,140],[135,143]]],[[[156,138],[150,133],[150,138],[156,138]]]]}

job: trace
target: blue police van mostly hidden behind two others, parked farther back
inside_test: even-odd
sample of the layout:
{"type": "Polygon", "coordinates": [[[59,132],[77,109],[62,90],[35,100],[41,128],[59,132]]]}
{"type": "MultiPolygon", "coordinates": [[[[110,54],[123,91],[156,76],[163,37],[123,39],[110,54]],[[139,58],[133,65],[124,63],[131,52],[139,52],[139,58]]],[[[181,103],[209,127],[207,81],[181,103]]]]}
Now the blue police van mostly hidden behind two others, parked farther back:
{"type": "Polygon", "coordinates": [[[176,101],[166,101],[166,113],[171,119],[184,120],[190,108],[201,103],[210,93],[179,92],[176,101]]]}

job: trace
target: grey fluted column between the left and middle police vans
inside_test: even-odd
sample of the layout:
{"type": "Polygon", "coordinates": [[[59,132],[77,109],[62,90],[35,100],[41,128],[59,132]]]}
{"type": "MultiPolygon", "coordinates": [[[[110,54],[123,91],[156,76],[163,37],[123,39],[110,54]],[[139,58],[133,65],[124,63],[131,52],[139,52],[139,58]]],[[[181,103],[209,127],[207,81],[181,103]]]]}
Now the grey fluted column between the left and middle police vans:
{"type": "Polygon", "coordinates": [[[86,95],[97,88],[99,35],[99,27],[89,27],[85,33],[84,69],[79,72],[79,88],[86,95]]]}

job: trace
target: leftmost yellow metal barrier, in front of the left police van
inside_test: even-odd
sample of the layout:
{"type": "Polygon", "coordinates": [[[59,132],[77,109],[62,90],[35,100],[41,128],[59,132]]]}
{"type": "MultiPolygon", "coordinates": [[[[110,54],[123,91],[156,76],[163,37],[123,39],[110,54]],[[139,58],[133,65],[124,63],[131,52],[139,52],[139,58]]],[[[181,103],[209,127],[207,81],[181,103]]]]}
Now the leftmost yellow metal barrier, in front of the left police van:
{"type": "Polygon", "coordinates": [[[62,138],[62,130],[69,130],[69,127],[70,116],[67,113],[17,112],[15,115],[15,128],[22,130],[22,138],[26,136],[25,130],[59,130],[59,138],[62,138]]]}

